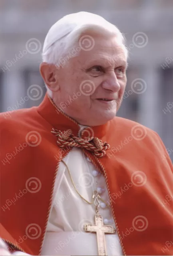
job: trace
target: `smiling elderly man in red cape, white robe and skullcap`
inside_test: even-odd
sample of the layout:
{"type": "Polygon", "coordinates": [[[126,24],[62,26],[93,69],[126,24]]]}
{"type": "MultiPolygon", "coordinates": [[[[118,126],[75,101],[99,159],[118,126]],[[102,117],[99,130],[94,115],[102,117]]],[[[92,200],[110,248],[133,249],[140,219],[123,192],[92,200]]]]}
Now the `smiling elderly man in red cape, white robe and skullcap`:
{"type": "Polygon", "coordinates": [[[116,117],[127,55],[121,32],[95,14],[50,28],[43,102],[0,116],[9,254],[173,254],[169,155],[157,133],[116,117]]]}

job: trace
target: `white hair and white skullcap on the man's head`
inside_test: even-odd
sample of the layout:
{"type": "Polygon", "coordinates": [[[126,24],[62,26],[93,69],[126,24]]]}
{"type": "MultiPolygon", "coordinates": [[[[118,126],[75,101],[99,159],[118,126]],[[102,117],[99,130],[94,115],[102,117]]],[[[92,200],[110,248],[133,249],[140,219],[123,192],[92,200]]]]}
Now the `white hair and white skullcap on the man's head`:
{"type": "MultiPolygon", "coordinates": [[[[74,56],[80,54],[82,44],[87,40],[91,44],[91,36],[84,35],[83,42],[79,40],[85,32],[97,32],[103,36],[116,36],[119,44],[122,44],[126,59],[128,58],[128,50],[125,47],[125,37],[120,30],[99,15],[89,12],[78,12],[64,16],[58,20],[48,31],[44,41],[42,60],[49,64],[61,66],[66,62],[69,52],[74,50],[74,56]],[[77,51],[76,49],[79,49],[77,51]]],[[[47,86],[46,86],[47,87],[47,86]]],[[[48,89],[48,87],[47,87],[48,89]]],[[[48,89],[48,92],[50,90],[48,89]]]]}

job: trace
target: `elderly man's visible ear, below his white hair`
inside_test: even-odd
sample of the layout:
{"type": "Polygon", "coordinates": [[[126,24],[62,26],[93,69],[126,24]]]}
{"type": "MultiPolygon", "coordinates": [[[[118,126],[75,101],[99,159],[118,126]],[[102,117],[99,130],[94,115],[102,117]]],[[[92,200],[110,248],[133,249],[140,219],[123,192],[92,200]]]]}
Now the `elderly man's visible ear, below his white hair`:
{"type": "Polygon", "coordinates": [[[45,84],[52,92],[56,92],[59,90],[60,86],[58,82],[58,70],[56,68],[56,65],[42,62],[40,64],[40,74],[45,84]]]}

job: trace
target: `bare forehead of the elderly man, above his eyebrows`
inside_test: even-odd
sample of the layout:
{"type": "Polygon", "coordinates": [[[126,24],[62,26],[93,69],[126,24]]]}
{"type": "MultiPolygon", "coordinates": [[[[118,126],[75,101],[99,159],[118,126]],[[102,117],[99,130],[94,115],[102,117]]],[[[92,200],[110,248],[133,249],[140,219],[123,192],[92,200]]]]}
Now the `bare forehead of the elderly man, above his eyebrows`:
{"type": "MultiPolygon", "coordinates": [[[[84,47],[90,50],[81,49],[79,58],[81,62],[103,59],[127,62],[125,46],[119,42],[116,36],[95,35],[84,42],[84,47]],[[91,45],[92,43],[92,45],[91,45]]],[[[84,48],[83,47],[83,48],[84,48]]]]}

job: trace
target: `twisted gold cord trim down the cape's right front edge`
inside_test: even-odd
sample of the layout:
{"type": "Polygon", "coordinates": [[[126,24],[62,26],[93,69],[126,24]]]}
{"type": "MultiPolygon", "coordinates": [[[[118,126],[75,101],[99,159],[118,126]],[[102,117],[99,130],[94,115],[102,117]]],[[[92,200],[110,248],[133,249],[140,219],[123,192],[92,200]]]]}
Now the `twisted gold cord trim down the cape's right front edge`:
{"type": "Polygon", "coordinates": [[[103,164],[101,164],[101,162],[97,159],[97,157],[95,155],[94,158],[95,160],[99,163],[99,165],[101,166],[101,169],[100,170],[98,168],[98,166],[95,164],[95,162],[90,158],[90,156],[83,150],[84,154],[91,160],[91,162],[93,163],[93,165],[97,168],[97,170],[101,171],[101,173],[103,174],[103,176],[105,177],[105,181],[106,181],[106,187],[107,187],[107,191],[108,191],[108,194],[109,194],[109,201],[110,201],[110,204],[111,204],[111,209],[112,209],[112,214],[113,214],[113,219],[115,221],[115,227],[116,227],[116,231],[117,231],[117,234],[118,234],[118,237],[119,237],[119,241],[120,241],[120,244],[121,244],[121,248],[123,250],[123,254],[126,256],[126,252],[125,252],[125,249],[124,249],[124,245],[123,245],[123,242],[122,242],[122,238],[121,238],[121,235],[120,235],[120,232],[119,232],[119,228],[118,228],[118,224],[117,224],[117,220],[116,220],[116,217],[115,217],[115,212],[113,210],[113,205],[112,205],[112,201],[110,200],[111,198],[111,193],[110,193],[110,189],[109,189],[109,184],[108,184],[108,181],[107,181],[107,175],[106,175],[106,171],[105,171],[105,168],[103,166],[103,164]]]}

